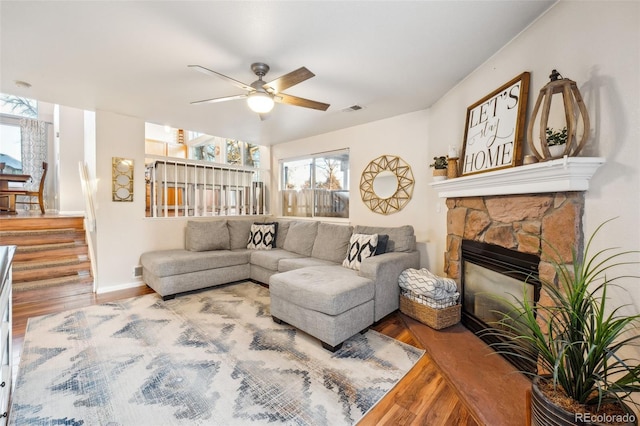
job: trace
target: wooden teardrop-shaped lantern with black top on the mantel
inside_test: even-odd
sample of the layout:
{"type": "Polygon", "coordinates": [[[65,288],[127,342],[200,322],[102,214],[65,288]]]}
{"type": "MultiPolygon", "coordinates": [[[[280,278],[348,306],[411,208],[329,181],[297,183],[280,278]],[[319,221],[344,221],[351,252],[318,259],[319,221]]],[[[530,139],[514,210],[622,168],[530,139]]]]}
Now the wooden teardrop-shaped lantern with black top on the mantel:
{"type": "Polygon", "coordinates": [[[587,139],[589,139],[589,114],[582,101],[582,96],[580,95],[576,82],[568,78],[563,78],[556,70],[551,72],[549,78],[551,81],[540,89],[538,100],[533,108],[529,126],[527,127],[527,143],[529,144],[529,148],[531,148],[536,158],[542,161],[563,157],[565,155],[575,157],[582,150],[587,139]],[[564,129],[555,132],[549,127],[549,112],[551,110],[551,98],[558,93],[562,94],[566,126],[564,129]],[[540,106],[542,106],[542,112],[540,115],[540,151],[538,151],[533,140],[533,127],[538,111],[540,111],[540,106]],[[578,141],[577,130],[581,117],[584,130],[580,141],[578,141]],[[558,138],[557,136],[560,137],[558,138]],[[560,147],[564,146],[564,150],[562,150],[561,153],[559,152],[553,155],[550,152],[549,143],[552,138],[561,139],[560,142],[566,139],[563,145],[558,145],[560,147]]]}

